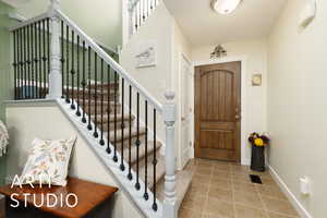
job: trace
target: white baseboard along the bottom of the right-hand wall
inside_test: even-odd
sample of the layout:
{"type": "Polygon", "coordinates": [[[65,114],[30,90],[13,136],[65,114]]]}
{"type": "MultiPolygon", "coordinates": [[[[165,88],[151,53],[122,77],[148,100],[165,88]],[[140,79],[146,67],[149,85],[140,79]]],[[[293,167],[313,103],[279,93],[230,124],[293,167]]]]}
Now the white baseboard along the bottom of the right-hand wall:
{"type": "Polygon", "coordinates": [[[300,214],[302,218],[313,218],[313,216],[310,215],[310,213],[304,208],[304,206],[298,201],[295,195],[291,192],[291,190],[287,186],[287,184],[281,180],[281,178],[278,175],[276,170],[268,165],[268,169],[270,171],[270,174],[272,175],[274,180],[277,182],[279,187],[282,190],[282,192],[287,195],[291,204],[294,206],[296,211],[300,214]]]}

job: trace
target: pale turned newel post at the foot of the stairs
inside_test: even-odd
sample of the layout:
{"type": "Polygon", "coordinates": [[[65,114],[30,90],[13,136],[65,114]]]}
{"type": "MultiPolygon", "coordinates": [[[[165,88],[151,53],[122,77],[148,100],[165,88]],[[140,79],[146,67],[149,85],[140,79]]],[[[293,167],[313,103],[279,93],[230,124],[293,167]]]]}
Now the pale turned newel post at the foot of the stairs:
{"type": "Polygon", "coordinates": [[[174,93],[165,94],[167,104],[164,105],[164,122],[166,124],[166,175],[164,218],[177,217],[175,205],[175,154],[174,154],[174,122],[177,120],[177,107],[173,102],[174,93]]]}

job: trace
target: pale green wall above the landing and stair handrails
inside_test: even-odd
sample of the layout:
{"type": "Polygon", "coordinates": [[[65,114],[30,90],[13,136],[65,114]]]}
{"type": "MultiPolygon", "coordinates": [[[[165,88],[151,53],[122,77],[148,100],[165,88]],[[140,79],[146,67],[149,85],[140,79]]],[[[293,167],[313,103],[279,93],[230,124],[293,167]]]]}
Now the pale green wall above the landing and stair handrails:
{"type": "MultiPolygon", "coordinates": [[[[33,17],[46,12],[50,1],[16,2],[17,12],[21,15],[33,17]]],[[[111,48],[121,45],[121,0],[61,0],[60,4],[61,10],[97,43],[111,48]]]]}

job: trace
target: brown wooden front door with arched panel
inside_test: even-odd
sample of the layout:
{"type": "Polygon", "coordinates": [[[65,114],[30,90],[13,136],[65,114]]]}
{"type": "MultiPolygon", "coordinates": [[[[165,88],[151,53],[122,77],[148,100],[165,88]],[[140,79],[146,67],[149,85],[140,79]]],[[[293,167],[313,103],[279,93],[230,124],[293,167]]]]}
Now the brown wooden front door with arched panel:
{"type": "Polygon", "coordinates": [[[195,68],[195,157],[241,160],[241,62],[195,68]]]}

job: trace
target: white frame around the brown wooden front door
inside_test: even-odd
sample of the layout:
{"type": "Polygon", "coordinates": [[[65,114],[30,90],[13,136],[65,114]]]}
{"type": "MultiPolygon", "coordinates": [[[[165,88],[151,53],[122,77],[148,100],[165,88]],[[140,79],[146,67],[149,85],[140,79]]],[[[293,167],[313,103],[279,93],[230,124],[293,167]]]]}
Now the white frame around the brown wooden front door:
{"type": "MultiPolygon", "coordinates": [[[[206,61],[194,61],[193,62],[193,76],[195,75],[195,66],[201,66],[201,65],[210,65],[210,64],[217,64],[217,63],[228,63],[228,62],[235,62],[240,61],[241,62],[241,165],[249,166],[250,161],[246,159],[246,132],[245,132],[245,126],[246,126],[246,56],[234,56],[234,57],[226,57],[226,58],[220,58],[217,60],[206,60],[206,61]]],[[[195,84],[193,83],[191,85],[191,88],[193,89],[193,97],[195,94],[195,84]]],[[[191,157],[194,158],[195,154],[195,117],[194,117],[194,105],[193,100],[193,111],[192,111],[192,132],[193,134],[191,137],[193,138],[193,149],[191,157]]]]}

